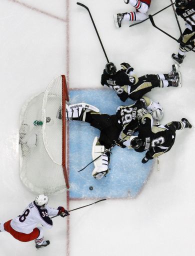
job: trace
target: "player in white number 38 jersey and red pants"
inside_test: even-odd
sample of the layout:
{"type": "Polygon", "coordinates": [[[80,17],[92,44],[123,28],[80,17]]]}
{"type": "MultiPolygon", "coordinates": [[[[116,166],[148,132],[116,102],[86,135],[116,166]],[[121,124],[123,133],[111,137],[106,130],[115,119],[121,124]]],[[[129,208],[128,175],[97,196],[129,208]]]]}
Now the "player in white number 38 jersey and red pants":
{"type": "Polygon", "coordinates": [[[44,227],[51,228],[52,220],[49,215],[60,215],[65,217],[69,215],[64,207],[57,209],[47,206],[48,197],[44,194],[36,196],[33,202],[30,202],[21,215],[0,223],[0,231],[9,232],[15,239],[28,242],[35,241],[35,247],[41,248],[49,244],[49,240],[43,240],[43,228],[37,226],[41,224],[44,227]]]}

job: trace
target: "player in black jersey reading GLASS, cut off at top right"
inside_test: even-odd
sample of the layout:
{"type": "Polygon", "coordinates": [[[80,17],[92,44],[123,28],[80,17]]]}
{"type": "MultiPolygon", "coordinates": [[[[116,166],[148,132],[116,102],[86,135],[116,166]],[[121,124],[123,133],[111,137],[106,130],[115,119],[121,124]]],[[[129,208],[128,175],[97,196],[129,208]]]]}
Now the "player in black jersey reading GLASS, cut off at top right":
{"type": "Polygon", "coordinates": [[[185,30],[182,33],[183,43],[179,45],[178,53],[172,53],[172,58],[178,64],[183,62],[186,51],[195,48],[195,0],[175,0],[176,14],[181,16],[185,21],[185,30]]]}

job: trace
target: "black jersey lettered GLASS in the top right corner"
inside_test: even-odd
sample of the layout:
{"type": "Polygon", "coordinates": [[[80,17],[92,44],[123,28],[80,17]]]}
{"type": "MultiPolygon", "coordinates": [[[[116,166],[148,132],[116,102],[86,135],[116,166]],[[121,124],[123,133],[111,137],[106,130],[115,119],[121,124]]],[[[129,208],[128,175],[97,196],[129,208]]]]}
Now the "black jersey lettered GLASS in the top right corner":
{"type": "Polygon", "coordinates": [[[177,15],[181,16],[195,31],[195,0],[188,0],[184,9],[176,8],[177,15]]]}

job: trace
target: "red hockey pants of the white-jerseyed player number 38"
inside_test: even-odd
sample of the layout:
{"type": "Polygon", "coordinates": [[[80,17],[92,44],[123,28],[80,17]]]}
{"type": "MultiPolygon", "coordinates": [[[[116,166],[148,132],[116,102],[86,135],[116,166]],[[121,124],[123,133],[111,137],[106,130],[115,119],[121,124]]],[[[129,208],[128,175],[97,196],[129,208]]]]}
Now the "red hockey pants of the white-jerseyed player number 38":
{"type": "Polygon", "coordinates": [[[33,231],[29,234],[17,232],[15,229],[11,227],[10,225],[11,220],[12,219],[4,223],[4,230],[10,233],[15,239],[21,242],[28,242],[36,239],[39,236],[39,229],[37,227],[35,227],[33,231]]]}

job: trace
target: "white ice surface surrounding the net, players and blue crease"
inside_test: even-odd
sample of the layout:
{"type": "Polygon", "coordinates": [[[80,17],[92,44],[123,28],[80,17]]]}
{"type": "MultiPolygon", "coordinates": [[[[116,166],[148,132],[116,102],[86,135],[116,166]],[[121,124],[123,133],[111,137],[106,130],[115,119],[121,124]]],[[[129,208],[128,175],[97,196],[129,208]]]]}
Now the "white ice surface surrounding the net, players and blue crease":
{"type": "MultiPolygon", "coordinates": [[[[177,42],[149,21],[131,28],[127,23],[120,29],[114,26],[114,13],[133,10],[123,0],[81,2],[89,7],[108,59],[117,68],[121,62],[129,62],[138,76],[171,69],[170,55],[177,53],[177,42]]],[[[168,4],[169,0],[153,0],[149,13],[168,4]]],[[[171,7],[154,20],[179,37],[171,7]]],[[[179,21],[184,29],[184,22],[179,21]]],[[[1,0],[0,35],[0,221],[6,221],[20,214],[35,197],[18,175],[22,104],[44,91],[49,81],[61,73],[66,74],[72,90],[102,89],[100,75],[106,59],[87,11],[76,5],[76,0],[1,0]]],[[[162,124],[186,117],[195,125],[194,56],[188,52],[180,67],[181,88],[155,88],[148,93],[164,108],[162,124]]],[[[21,243],[6,232],[0,233],[0,255],[193,256],[194,139],[194,128],[177,131],[174,146],[160,156],[160,171],[156,171],[154,162],[147,182],[134,199],[108,199],[72,211],[69,221],[53,219],[53,228],[44,229],[50,245],[38,251],[33,241],[21,243]]],[[[90,173],[85,178],[90,180],[90,173]]],[[[116,185],[115,190],[121,187],[116,185]]],[[[65,200],[65,193],[53,195],[49,205],[65,205],[65,200]]],[[[91,202],[70,198],[69,209],[91,202]]]]}

